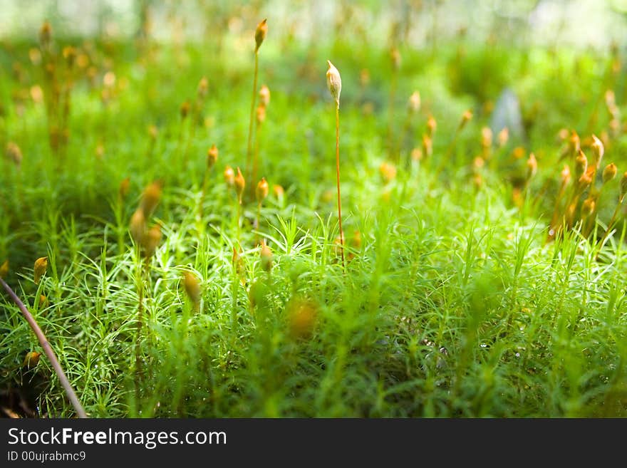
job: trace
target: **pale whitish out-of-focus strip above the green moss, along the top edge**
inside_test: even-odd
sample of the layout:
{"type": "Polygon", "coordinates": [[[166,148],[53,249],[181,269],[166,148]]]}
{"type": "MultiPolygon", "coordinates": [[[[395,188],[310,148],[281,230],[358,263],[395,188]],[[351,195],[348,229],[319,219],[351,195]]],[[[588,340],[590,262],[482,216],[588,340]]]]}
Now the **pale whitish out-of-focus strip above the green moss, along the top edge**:
{"type": "Polygon", "coordinates": [[[627,0],[1,0],[0,5],[0,38],[34,38],[48,19],[61,37],[129,38],[145,25],[155,40],[203,41],[207,33],[247,31],[261,14],[271,16],[275,38],[303,41],[356,33],[379,40],[398,36],[421,47],[462,31],[476,41],[606,49],[627,39],[627,0]]]}

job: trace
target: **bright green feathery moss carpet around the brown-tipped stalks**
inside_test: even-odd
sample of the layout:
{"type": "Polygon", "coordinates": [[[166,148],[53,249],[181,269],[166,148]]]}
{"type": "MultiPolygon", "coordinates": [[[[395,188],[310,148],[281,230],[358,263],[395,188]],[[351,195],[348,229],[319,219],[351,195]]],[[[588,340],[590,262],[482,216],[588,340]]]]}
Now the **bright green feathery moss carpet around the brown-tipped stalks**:
{"type": "MultiPolygon", "coordinates": [[[[395,134],[403,132],[405,100],[415,89],[423,109],[400,145],[398,176],[384,184],[378,168],[387,155],[388,52],[340,43],[281,48],[269,37],[259,52],[259,85],[272,93],[259,177],[271,187],[281,184],[285,197],[271,190],[258,233],[252,229],[256,202],[243,206],[242,284],[232,263],[237,205],[222,171],[245,164],[253,44],[238,51],[227,43],[221,52],[159,46],[146,56],[131,43],[95,43],[96,83],[80,80],[73,90],[70,137],[61,154],[48,145],[43,105],[15,99],[42,83],[41,67],[28,62],[31,46],[5,43],[0,51],[0,143],[16,142],[24,154],[19,168],[1,160],[0,261],[10,260],[7,281],[30,306],[89,415],[627,415],[623,217],[598,259],[598,246],[576,230],[545,243],[561,170],[556,134],[574,128],[585,137],[607,127],[601,105],[588,128],[605,90],[599,77],[607,58],[556,51],[553,61],[554,53],[541,49],[504,48],[494,55],[494,47],[466,44],[458,60],[455,44],[435,57],[401,49],[395,134]],[[343,79],[346,272],[335,244],[327,58],[343,79]],[[11,72],[16,61],[25,70],[21,81],[11,72]],[[105,105],[100,93],[109,68],[116,91],[105,105]],[[363,90],[362,68],[371,71],[363,90]],[[209,79],[206,120],[182,120],[180,105],[195,98],[202,76],[209,79]],[[475,187],[472,160],[481,152],[480,128],[489,123],[484,101],[494,101],[502,85],[519,93],[527,138],[512,137],[494,150],[496,164],[482,168],[484,183],[475,187]],[[363,113],[366,101],[371,114],[363,113]],[[450,160],[442,160],[467,108],[475,117],[450,160]],[[433,155],[410,161],[430,113],[437,119],[433,155]],[[159,130],[153,143],[149,125],[159,130]],[[198,220],[212,144],[219,160],[198,220]],[[522,207],[512,202],[512,182],[525,174],[524,160],[510,156],[516,145],[539,161],[522,207]],[[120,203],[125,177],[130,192],[120,203]],[[157,179],[163,194],[152,222],[162,225],[163,237],[145,281],[137,399],[143,260],[128,223],[143,187],[157,179]],[[351,241],[356,231],[361,245],[351,241]],[[257,235],[274,253],[271,274],[261,268],[257,235]],[[40,256],[49,257],[49,266],[37,286],[32,270],[40,256]],[[200,281],[198,311],[185,296],[183,271],[200,281]],[[39,294],[48,298],[45,307],[37,305],[39,294]],[[290,304],[303,298],[315,304],[316,327],[311,337],[295,338],[290,304]]],[[[621,106],[626,90],[619,84],[615,90],[621,106]]],[[[626,147],[622,135],[606,147],[604,162],[616,162],[619,174],[627,169],[626,147]]],[[[618,179],[604,189],[596,239],[617,197],[618,179]]],[[[43,415],[73,415],[43,357],[34,370],[21,368],[29,350],[40,350],[36,338],[2,294],[0,388],[35,388],[34,406],[43,415]]]]}

